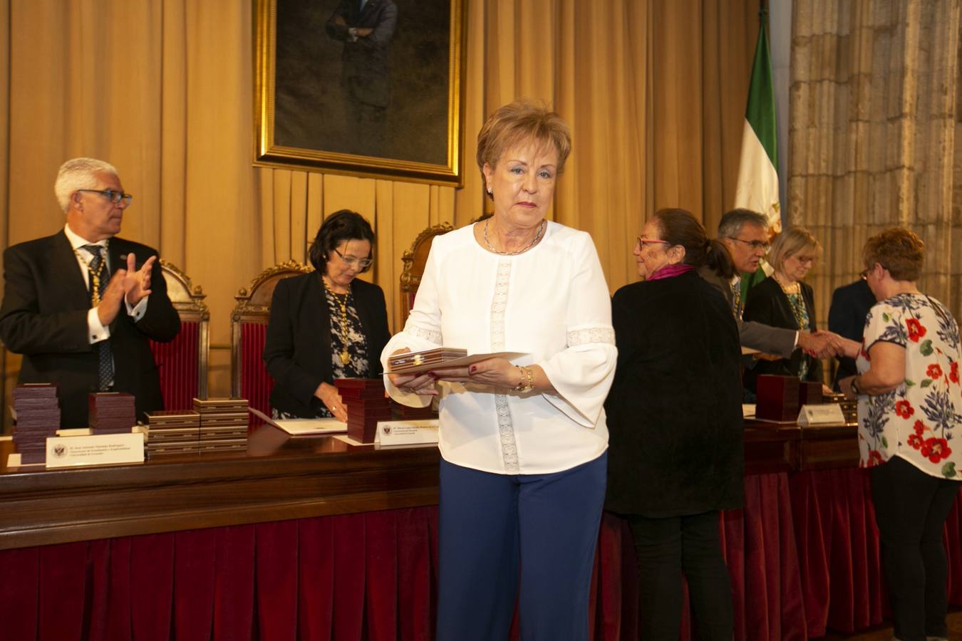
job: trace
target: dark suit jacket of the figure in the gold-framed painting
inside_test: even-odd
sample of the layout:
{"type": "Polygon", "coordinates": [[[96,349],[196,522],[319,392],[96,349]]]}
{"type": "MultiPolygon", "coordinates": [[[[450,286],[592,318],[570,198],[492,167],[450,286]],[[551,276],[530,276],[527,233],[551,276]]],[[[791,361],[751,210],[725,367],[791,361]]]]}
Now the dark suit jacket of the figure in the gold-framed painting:
{"type": "Polygon", "coordinates": [[[397,7],[391,0],[367,0],[358,11],[359,0],[342,0],[324,26],[327,35],[342,40],[342,82],[355,99],[374,107],[391,102],[390,44],[397,25],[397,7]],[[340,24],[338,17],[345,23],[340,24]],[[348,27],[369,28],[369,36],[351,42],[348,27]]]}

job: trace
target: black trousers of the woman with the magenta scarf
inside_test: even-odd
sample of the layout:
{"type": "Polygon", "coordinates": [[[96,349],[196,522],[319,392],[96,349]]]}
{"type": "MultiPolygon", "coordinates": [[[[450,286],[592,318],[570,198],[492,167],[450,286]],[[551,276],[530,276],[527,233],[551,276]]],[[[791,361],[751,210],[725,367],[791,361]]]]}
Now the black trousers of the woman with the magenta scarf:
{"type": "Polygon", "coordinates": [[[719,513],[648,518],[626,514],[638,553],[641,636],[676,641],[681,629],[682,575],[696,639],[731,641],[731,579],[722,559],[719,513]]]}

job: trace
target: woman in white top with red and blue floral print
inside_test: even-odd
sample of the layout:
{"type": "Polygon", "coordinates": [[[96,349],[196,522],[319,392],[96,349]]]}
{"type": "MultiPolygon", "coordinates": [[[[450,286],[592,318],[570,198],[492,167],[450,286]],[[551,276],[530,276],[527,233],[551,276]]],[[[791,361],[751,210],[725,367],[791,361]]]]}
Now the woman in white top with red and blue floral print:
{"type": "Polygon", "coordinates": [[[962,487],[962,385],[958,324],[916,286],[924,243],[890,229],[869,238],[863,277],[878,303],[861,345],[848,341],[858,376],[840,382],[858,397],[861,466],[871,469],[895,636],[948,637],[942,544],[962,487]]]}

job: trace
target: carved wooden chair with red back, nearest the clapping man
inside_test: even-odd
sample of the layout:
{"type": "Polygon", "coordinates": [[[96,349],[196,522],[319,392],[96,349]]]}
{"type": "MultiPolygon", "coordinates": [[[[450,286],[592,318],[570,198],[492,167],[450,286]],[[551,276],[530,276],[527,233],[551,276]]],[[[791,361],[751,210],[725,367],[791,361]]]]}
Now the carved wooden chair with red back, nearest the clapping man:
{"type": "Polygon", "coordinates": [[[211,312],[200,285],[192,284],[177,265],[165,259],[160,265],[181,331],[169,343],[150,341],[150,351],[161,379],[164,407],[192,409],[194,397],[207,398],[211,312]]]}

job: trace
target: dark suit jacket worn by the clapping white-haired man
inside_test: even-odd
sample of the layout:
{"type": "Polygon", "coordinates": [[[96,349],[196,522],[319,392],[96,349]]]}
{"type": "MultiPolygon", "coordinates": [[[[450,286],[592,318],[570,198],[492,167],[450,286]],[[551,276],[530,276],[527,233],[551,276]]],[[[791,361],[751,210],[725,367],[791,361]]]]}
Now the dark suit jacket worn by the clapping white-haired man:
{"type": "MultiPolygon", "coordinates": [[[[146,245],[111,238],[108,261],[112,273],[126,266],[126,255],[131,253],[137,257],[138,268],[157,256],[146,245]]],[[[98,357],[88,337],[87,283],[66,234],[61,231],[9,247],[4,252],[4,283],[0,338],[11,352],[23,355],[17,382],[56,383],[62,426],[86,427],[88,395],[97,388],[98,357]]],[[[156,263],[150,288],[147,311],[139,322],[121,307],[110,327],[114,391],[136,397],[141,420],[144,412],[164,407],[149,341],[173,340],[180,332],[180,317],[170,304],[164,275],[156,263]]]]}

